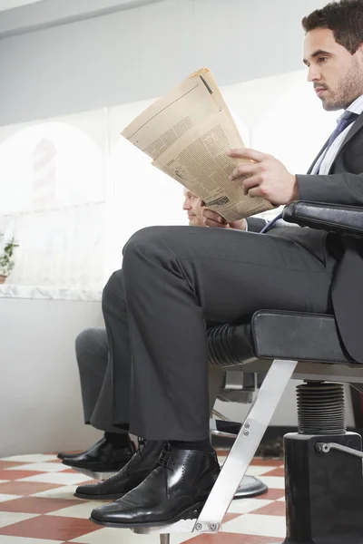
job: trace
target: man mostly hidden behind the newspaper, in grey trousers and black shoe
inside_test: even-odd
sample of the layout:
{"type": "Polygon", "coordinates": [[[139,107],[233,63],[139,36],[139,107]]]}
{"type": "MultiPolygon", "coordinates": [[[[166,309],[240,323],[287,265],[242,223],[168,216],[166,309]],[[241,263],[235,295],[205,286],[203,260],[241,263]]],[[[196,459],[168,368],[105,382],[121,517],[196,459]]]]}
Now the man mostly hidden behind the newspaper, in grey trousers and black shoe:
{"type": "MultiPolygon", "coordinates": [[[[201,199],[190,190],[184,189],[182,209],[188,214],[190,226],[204,226],[201,199]]],[[[237,221],[231,227],[243,226],[243,221],[237,221]]],[[[221,224],[221,227],[227,225],[221,224]]],[[[107,287],[103,293],[103,304],[107,304],[106,300],[110,297],[112,304],[113,292],[107,287]]],[[[81,380],[84,423],[102,430],[104,435],[85,452],[59,453],[58,457],[64,464],[90,471],[119,471],[132,458],[134,446],[128,432],[113,425],[112,367],[108,364],[106,330],[102,327],[84,330],[76,338],[75,354],[81,380]]],[[[126,365],[130,361],[127,354],[123,359],[126,365]]],[[[123,382],[120,387],[125,389],[129,387],[130,377],[130,370],[126,365],[123,365],[123,374],[119,374],[119,379],[123,382]]]]}

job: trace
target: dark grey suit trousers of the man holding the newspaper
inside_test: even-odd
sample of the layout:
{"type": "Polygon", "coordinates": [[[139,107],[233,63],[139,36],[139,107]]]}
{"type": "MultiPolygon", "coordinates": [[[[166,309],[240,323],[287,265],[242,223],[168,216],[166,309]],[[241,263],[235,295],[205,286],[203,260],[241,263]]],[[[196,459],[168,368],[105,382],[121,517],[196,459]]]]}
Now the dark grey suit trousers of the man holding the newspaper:
{"type": "Polygon", "coordinates": [[[123,383],[113,387],[113,423],[127,414],[130,431],[149,440],[208,437],[207,325],[260,309],[331,313],[332,273],[331,259],[327,266],[279,228],[136,232],[123,249],[123,281],[113,275],[113,297],[103,296],[114,379],[126,337],[132,359],[129,404],[123,383]]]}

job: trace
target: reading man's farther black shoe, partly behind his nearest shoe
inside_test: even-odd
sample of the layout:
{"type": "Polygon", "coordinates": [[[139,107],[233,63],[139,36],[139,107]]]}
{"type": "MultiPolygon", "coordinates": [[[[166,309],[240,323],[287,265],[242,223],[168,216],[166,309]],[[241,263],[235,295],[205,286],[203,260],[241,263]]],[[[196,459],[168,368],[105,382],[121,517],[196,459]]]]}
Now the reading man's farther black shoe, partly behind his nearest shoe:
{"type": "Polygon", "coordinates": [[[80,485],[74,493],[79,499],[119,499],[133,490],[155,468],[164,442],[139,441],[139,449],[117,474],[93,485],[80,485]]]}

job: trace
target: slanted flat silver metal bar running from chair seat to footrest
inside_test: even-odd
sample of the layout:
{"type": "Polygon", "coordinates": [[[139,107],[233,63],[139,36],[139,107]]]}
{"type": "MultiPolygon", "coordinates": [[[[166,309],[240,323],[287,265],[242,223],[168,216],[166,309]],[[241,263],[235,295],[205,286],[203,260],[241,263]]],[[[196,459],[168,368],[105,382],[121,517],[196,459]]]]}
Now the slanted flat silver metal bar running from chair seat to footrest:
{"type": "Polygon", "coordinates": [[[276,359],[270,366],[260,391],[250,407],[230,455],[221,469],[193,531],[216,533],[228,510],[239,482],[247,471],[250,461],[259,447],[263,434],[270,423],[282,393],[298,364],[298,361],[276,359]]]}

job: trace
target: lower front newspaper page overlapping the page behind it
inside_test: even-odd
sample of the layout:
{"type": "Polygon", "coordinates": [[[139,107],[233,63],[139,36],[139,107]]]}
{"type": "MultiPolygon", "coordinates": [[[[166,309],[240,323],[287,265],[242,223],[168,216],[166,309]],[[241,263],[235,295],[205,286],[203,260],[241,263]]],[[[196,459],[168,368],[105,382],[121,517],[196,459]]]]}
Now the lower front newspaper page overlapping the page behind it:
{"type": "Polygon", "coordinates": [[[227,151],[240,147],[239,138],[228,117],[218,113],[184,134],[152,164],[198,195],[207,208],[228,222],[237,221],[273,208],[265,199],[245,195],[240,180],[229,179],[239,162],[227,151]]]}

